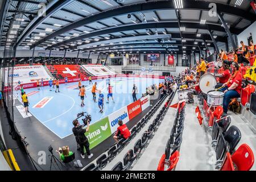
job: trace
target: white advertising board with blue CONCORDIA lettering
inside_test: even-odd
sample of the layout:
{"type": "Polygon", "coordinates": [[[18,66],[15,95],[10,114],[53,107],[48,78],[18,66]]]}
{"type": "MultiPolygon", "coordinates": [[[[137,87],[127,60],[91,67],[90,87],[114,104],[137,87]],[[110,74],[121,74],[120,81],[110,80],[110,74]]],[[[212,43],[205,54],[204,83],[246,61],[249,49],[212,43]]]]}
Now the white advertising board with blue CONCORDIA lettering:
{"type": "Polygon", "coordinates": [[[109,125],[110,125],[110,129],[111,129],[112,133],[117,131],[119,119],[122,119],[123,124],[125,124],[129,121],[127,106],[125,106],[122,109],[119,109],[109,115],[109,125]]]}

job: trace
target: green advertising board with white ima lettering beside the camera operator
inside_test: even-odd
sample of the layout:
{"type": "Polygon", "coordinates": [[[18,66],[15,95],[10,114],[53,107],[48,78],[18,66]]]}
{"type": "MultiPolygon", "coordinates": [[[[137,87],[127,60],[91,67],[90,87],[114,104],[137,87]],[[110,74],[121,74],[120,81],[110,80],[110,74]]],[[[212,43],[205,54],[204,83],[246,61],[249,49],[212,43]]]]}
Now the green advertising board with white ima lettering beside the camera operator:
{"type": "Polygon", "coordinates": [[[96,147],[98,144],[110,137],[110,135],[112,135],[112,133],[108,117],[90,125],[90,130],[85,133],[85,136],[88,138],[90,143],[90,149],[96,147]]]}

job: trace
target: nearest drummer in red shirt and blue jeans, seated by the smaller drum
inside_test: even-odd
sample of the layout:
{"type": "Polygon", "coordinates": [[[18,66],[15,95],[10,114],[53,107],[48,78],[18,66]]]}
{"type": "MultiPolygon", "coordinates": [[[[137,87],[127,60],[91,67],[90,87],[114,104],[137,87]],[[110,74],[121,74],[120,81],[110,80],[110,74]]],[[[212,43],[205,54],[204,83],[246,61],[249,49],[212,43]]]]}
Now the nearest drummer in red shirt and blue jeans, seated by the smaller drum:
{"type": "Polygon", "coordinates": [[[242,73],[239,71],[239,65],[236,62],[232,63],[231,68],[232,76],[228,82],[222,85],[224,88],[220,89],[220,91],[225,93],[223,101],[224,114],[228,113],[228,106],[231,99],[241,97],[242,73]]]}

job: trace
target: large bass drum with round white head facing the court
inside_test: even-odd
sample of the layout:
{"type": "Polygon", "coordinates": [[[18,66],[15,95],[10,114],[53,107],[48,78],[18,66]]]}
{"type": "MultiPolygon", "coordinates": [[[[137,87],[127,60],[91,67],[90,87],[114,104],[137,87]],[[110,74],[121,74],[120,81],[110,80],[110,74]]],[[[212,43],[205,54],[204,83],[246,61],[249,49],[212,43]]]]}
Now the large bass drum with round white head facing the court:
{"type": "Polygon", "coordinates": [[[214,90],[216,85],[216,78],[210,74],[204,74],[199,80],[200,89],[205,94],[207,94],[209,91],[214,90]]]}

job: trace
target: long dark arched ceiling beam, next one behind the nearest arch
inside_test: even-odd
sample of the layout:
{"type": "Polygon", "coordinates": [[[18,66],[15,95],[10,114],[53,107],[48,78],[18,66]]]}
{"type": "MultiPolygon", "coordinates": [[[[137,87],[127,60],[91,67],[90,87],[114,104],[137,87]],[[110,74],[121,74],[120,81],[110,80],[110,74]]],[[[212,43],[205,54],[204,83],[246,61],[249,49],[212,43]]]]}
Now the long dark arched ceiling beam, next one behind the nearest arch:
{"type": "MultiPolygon", "coordinates": [[[[200,29],[208,30],[208,27],[209,27],[210,30],[225,32],[225,29],[223,27],[212,25],[212,24],[200,24],[199,25],[198,23],[183,23],[183,25],[187,28],[197,28],[198,27],[200,29]]],[[[121,31],[129,31],[129,30],[140,30],[140,29],[146,30],[146,29],[149,29],[149,28],[174,28],[174,27],[179,27],[179,24],[177,22],[130,24],[130,25],[127,25],[127,26],[107,28],[105,30],[91,32],[90,34],[80,35],[80,36],[77,36],[75,38],[64,40],[63,42],[54,44],[51,47],[48,47],[47,49],[60,46],[61,44],[67,44],[67,43],[75,42],[77,40],[91,38],[93,36],[111,34],[113,32],[121,32],[121,31]]],[[[233,28],[230,28],[230,30],[231,31],[236,31],[233,28]]],[[[35,43],[33,46],[31,46],[31,48],[33,48],[35,46],[38,46],[39,44],[45,42],[46,40],[48,40],[48,39],[43,38],[43,39],[39,40],[37,43],[35,43]]]]}

